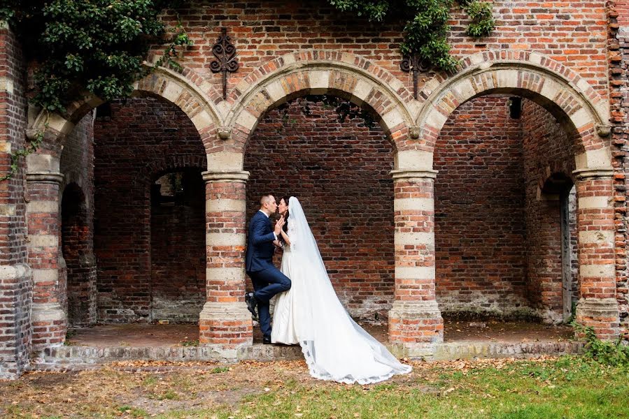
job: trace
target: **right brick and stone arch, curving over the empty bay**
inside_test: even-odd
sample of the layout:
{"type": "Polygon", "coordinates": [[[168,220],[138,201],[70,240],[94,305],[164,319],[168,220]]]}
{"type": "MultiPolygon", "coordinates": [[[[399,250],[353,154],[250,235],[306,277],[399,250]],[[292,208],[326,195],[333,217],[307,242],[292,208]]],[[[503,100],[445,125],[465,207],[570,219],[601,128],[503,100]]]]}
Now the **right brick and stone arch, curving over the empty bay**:
{"type": "Polygon", "coordinates": [[[532,52],[474,54],[462,61],[458,74],[428,82],[420,94],[422,107],[416,117],[420,140],[411,147],[432,153],[453,110],[472,98],[495,93],[529,98],[556,117],[575,139],[577,169],[611,168],[609,147],[599,135],[609,124],[605,98],[574,71],[532,52]]]}

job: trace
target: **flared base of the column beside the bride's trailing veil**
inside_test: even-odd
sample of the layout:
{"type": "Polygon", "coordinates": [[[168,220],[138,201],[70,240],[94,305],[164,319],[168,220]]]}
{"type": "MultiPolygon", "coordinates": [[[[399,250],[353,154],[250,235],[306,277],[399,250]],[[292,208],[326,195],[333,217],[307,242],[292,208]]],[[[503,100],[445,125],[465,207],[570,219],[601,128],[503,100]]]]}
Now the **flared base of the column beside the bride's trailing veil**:
{"type": "Polygon", "coordinates": [[[435,300],[395,301],[389,311],[389,341],[396,355],[426,357],[444,341],[444,319],[435,300]]]}

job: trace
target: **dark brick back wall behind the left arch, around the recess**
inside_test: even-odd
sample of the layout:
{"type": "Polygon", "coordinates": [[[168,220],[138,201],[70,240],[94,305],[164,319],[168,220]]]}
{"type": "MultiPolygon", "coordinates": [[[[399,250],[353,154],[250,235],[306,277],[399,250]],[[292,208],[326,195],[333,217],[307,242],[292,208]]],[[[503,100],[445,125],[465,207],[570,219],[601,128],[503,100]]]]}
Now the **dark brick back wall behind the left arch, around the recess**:
{"type": "MultiPolygon", "coordinates": [[[[171,275],[152,278],[151,185],[171,170],[206,167],[199,134],[171,103],[155,98],[115,101],[111,117],[97,117],[95,122],[94,154],[99,321],[150,321],[152,290],[176,286],[179,282],[173,278],[181,273],[173,267],[171,275]]],[[[204,231],[203,222],[188,228],[195,227],[204,231]]],[[[204,238],[197,249],[205,249],[204,238]]],[[[204,261],[196,256],[190,263],[204,269],[204,261]]]]}

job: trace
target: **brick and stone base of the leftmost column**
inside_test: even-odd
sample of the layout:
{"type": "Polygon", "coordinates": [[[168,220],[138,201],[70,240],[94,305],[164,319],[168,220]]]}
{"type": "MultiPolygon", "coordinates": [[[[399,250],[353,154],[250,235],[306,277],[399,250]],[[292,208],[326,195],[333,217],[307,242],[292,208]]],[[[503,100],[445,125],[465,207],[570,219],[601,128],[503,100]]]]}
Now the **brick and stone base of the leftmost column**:
{"type": "Polygon", "coordinates": [[[68,323],[66,313],[57,302],[34,303],[31,314],[33,324],[33,351],[59,346],[66,341],[68,323]]]}

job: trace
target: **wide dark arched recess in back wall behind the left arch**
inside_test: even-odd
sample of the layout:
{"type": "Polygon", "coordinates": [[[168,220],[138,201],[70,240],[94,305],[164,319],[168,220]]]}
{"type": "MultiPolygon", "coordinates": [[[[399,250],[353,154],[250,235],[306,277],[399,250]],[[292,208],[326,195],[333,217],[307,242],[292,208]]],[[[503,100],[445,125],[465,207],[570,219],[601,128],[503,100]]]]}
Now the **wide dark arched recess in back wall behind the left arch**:
{"type": "Polygon", "coordinates": [[[205,302],[205,183],[201,168],[151,185],[150,318],[196,323],[205,302]]]}

